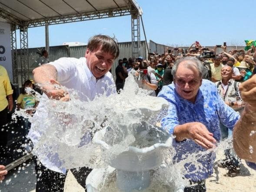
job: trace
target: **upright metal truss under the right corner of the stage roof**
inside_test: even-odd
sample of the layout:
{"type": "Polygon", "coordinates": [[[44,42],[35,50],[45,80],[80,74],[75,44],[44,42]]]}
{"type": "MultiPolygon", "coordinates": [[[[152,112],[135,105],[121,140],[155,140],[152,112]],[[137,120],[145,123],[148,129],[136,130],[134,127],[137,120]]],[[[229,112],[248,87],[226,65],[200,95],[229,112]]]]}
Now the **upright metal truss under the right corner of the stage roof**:
{"type": "Polygon", "coordinates": [[[140,15],[132,15],[132,55],[133,58],[140,56],[140,15]]]}

